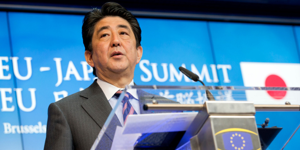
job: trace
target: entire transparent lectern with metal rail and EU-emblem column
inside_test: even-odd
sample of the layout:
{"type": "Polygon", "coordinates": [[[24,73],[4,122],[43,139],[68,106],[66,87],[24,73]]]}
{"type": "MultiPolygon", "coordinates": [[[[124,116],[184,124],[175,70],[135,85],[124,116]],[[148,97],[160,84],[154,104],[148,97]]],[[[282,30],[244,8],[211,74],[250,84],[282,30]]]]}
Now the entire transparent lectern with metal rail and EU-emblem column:
{"type": "MultiPolygon", "coordinates": [[[[131,146],[121,146],[120,149],[262,150],[269,145],[269,149],[283,149],[300,125],[299,117],[292,117],[300,115],[300,88],[136,85],[126,87],[126,90],[137,91],[140,105],[141,102],[145,104],[140,106],[141,114],[198,113],[184,131],[145,131],[137,139],[132,139],[131,146]],[[212,93],[214,101],[207,100],[206,90],[212,93]],[[272,131],[270,136],[265,134],[271,134],[271,130],[259,132],[260,126],[256,122],[259,120],[258,124],[262,124],[265,118],[270,118],[269,125],[280,127],[282,131],[272,131]],[[264,135],[260,136],[260,133],[264,135]],[[277,134],[280,136],[276,137],[277,134]]],[[[120,95],[91,149],[100,149],[101,144],[107,144],[104,137],[114,135],[115,112],[123,97],[124,93],[120,95]]],[[[172,119],[167,119],[167,122],[172,122],[172,119]]],[[[166,122],[159,124],[155,125],[155,129],[170,125],[166,122]]]]}

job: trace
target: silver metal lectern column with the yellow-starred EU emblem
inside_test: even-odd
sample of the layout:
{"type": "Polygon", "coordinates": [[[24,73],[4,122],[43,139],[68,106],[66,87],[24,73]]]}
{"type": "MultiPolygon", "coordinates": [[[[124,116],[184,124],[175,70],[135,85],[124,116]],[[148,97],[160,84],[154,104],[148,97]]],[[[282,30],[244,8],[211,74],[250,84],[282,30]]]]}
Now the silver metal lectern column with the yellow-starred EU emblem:
{"type": "Polygon", "coordinates": [[[206,101],[202,113],[205,122],[190,138],[193,150],[261,149],[252,102],[206,101]]]}

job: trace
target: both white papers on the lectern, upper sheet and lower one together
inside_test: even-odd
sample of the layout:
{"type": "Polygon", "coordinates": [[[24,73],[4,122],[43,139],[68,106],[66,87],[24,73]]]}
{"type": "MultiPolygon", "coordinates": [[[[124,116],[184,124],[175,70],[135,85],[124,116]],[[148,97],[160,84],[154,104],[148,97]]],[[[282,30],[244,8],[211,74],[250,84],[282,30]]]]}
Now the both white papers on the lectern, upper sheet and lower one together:
{"type": "Polygon", "coordinates": [[[117,126],[111,150],[132,150],[142,133],[186,131],[197,112],[129,115],[125,127],[117,126]]]}

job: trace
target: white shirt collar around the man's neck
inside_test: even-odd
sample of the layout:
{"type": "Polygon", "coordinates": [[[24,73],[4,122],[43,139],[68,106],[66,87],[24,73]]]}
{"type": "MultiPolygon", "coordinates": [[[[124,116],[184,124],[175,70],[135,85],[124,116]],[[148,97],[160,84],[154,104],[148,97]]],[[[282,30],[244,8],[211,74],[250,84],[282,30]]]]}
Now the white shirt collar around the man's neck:
{"type": "MultiPolygon", "coordinates": [[[[102,89],[105,97],[107,98],[107,100],[110,100],[110,98],[113,97],[113,95],[119,91],[119,90],[124,90],[125,88],[118,88],[110,83],[107,83],[105,81],[102,81],[101,79],[97,79],[97,83],[100,86],[100,88],[102,89]]],[[[132,79],[132,81],[129,83],[129,85],[133,86],[134,85],[134,81],[132,79]]],[[[139,99],[138,95],[137,95],[137,89],[136,88],[131,88],[127,90],[128,93],[130,93],[134,98],[136,98],[137,100],[139,99]]]]}

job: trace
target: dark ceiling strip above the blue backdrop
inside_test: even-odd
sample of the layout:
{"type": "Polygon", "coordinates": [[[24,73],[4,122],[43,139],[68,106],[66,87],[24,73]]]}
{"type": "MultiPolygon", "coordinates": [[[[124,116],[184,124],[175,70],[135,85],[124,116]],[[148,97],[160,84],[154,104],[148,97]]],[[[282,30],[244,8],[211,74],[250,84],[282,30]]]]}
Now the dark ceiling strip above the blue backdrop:
{"type": "MultiPolygon", "coordinates": [[[[105,2],[107,1],[10,0],[0,1],[0,10],[84,14],[86,10],[101,7],[105,2]],[[72,10],[62,10],[64,8],[72,8],[72,10]]],[[[300,0],[115,0],[115,2],[130,11],[138,12],[266,17],[296,19],[300,22],[300,0]]],[[[138,16],[143,16],[141,14],[137,13],[138,16]]]]}

